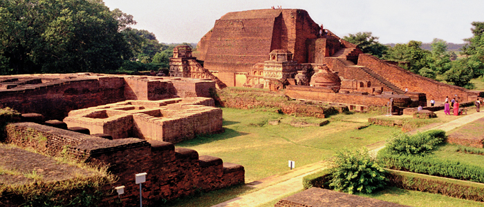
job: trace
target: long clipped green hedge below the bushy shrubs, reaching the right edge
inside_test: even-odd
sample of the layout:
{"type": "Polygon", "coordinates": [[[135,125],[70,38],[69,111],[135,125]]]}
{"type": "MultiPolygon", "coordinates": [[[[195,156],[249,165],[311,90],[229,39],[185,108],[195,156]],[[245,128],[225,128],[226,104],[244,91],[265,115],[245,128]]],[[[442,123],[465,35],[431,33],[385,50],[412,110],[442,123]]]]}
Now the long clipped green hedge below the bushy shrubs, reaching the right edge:
{"type": "Polygon", "coordinates": [[[392,155],[384,148],[378,152],[378,161],[387,168],[439,177],[451,177],[484,183],[484,168],[462,164],[459,161],[434,156],[392,155]]]}

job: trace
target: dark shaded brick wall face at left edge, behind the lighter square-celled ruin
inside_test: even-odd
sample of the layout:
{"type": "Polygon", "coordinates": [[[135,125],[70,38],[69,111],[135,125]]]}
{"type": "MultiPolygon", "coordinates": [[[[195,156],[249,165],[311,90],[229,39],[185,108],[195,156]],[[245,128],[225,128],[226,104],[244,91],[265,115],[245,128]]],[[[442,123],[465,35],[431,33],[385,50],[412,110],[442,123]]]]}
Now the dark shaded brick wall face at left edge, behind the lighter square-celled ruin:
{"type": "Polygon", "coordinates": [[[21,113],[37,112],[46,119],[64,119],[70,110],[124,100],[124,83],[119,77],[44,81],[0,90],[0,108],[10,107],[21,113]]]}

